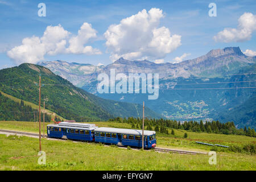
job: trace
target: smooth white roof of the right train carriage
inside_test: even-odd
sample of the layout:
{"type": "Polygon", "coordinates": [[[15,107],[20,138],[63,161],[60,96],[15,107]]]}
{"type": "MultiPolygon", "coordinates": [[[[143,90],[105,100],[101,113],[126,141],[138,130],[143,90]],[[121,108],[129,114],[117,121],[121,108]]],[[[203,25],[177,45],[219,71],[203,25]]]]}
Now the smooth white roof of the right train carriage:
{"type": "MultiPolygon", "coordinates": [[[[142,135],[142,130],[132,130],[132,129],[115,129],[112,127],[98,127],[94,131],[109,132],[109,133],[120,133],[120,134],[130,134],[130,135],[142,135]]],[[[144,135],[154,135],[155,131],[144,130],[144,135]]]]}

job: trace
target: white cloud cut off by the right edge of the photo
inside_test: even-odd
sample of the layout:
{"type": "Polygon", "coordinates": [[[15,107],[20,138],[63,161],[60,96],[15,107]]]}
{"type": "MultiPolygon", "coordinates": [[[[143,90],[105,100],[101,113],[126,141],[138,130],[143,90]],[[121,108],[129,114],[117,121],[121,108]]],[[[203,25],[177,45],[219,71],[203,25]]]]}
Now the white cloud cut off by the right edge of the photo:
{"type": "Polygon", "coordinates": [[[256,15],[244,13],[238,19],[237,28],[224,28],[213,39],[216,42],[244,42],[251,39],[251,34],[256,31],[256,15]]]}

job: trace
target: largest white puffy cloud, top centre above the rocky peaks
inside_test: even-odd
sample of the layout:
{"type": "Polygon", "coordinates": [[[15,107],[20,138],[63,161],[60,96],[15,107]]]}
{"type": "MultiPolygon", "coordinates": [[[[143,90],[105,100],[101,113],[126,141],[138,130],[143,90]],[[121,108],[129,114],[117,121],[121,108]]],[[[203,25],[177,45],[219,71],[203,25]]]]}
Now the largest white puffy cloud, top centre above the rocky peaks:
{"type": "Polygon", "coordinates": [[[181,45],[181,36],[166,27],[158,28],[163,11],[152,8],[112,24],[105,32],[106,46],[113,61],[124,59],[163,59],[181,45]]]}

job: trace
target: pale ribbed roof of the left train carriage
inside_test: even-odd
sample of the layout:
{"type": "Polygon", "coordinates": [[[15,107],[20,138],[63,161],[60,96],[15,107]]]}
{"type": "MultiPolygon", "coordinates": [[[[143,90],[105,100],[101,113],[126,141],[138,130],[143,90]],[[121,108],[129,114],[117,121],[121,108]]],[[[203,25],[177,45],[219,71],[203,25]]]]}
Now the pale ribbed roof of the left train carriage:
{"type": "Polygon", "coordinates": [[[90,123],[69,123],[69,122],[60,122],[57,125],[49,124],[49,127],[61,127],[66,129],[75,129],[75,130],[94,130],[97,128],[96,125],[90,123]]]}

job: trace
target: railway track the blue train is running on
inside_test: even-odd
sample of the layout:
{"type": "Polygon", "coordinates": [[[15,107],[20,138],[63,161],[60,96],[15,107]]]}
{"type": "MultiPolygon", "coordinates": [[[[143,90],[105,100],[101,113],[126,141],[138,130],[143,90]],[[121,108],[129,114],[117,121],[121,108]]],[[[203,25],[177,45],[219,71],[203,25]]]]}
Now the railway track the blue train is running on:
{"type": "MultiPolygon", "coordinates": [[[[0,129],[0,132],[4,132],[4,133],[11,133],[11,134],[20,134],[20,135],[27,135],[27,136],[33,136],[33,137],[39,137],[39,134],[36,133],[28,133],[28,132],[23,132],[23,131],[13,131],[13,130],[2,130],[0,129]]],[[[41,137],[43,137],[43,135],[41,134],[41,137]]],[[[46,135],[46,138],[47,135],[46,135]]],[[[60,138],[61,139],[61,138],[60,138]]],[[[62,138],[63,139],[63,138],[62,138]]],[[[66,140],[66,139],[63,139],[66,140]]],[[[121,146],[119,146],[121,147],[121,146]]],[[[123,146],[122,146],[123,147],[123,146]]],[[[173,153],[178,153],[178,154],[190,154],[190,155],[196,155],[196,154],[208,154],[207,152],[196,152],[196,151],[185,151],[185,150],[173,150],[170,148],[154,148],[155,151],[157,152],[173,152],[173,153]]]]}

